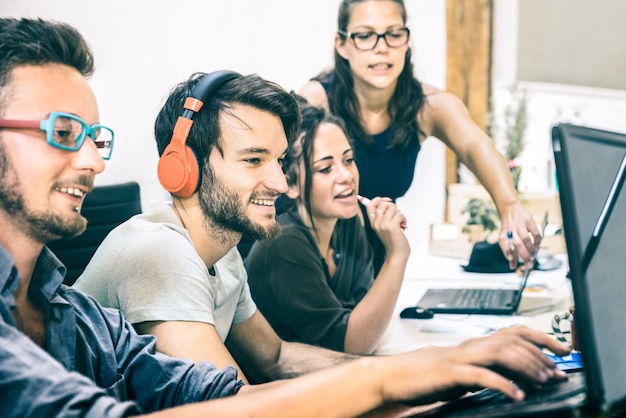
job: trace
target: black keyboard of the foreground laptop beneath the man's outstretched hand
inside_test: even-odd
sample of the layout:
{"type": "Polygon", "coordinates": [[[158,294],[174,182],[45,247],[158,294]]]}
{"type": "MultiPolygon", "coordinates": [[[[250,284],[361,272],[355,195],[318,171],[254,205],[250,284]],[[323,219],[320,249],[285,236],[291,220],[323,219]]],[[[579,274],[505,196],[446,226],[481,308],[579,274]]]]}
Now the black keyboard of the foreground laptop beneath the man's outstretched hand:
{"type": "MultiPolygon", "coordinates": [[[[523,401],[515,402],[502,393],[484,389],[449,402],[433,416],[489,417],[536,414],[559,407],[581,405],[586,398],[584,373],[571,373],[566,381],[556,381],[541,389],[527,390],[523,401]]],[[[428,414],[431,416],[431,414],[428,414]]]]}

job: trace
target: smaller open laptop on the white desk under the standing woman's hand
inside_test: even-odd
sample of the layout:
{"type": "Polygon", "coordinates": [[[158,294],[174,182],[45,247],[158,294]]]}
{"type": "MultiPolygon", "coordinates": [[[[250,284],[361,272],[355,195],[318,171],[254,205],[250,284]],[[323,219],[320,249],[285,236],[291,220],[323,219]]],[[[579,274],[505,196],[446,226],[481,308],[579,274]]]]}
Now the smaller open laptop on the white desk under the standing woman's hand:
{"type": "MultiPolygon", "coordinates": [[[[548,214],[543,219],[541,234],[548,225],[548,214]]],[[[516,288],[431,288],[417,303],[434,313],[512,315],[522,300],[528,276],[532,269],[525,269],[516,288]]]]}

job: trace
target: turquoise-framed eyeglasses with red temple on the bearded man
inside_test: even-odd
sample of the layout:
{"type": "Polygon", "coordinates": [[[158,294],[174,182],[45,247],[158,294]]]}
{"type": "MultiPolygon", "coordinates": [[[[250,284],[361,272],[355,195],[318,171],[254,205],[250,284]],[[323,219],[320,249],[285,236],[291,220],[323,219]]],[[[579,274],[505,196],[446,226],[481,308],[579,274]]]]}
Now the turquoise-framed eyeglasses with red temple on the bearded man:
{"type": "Polygon", "coordinates": [[[89,136],[103,160],[113,153],[113,130],[99,123],[89,126],[87,122],[65,112],[52,112],[47,120],[0,119],[0,128],[41,129],[46,133],[46,141],[55,148],[78,151],[89,136]]]}

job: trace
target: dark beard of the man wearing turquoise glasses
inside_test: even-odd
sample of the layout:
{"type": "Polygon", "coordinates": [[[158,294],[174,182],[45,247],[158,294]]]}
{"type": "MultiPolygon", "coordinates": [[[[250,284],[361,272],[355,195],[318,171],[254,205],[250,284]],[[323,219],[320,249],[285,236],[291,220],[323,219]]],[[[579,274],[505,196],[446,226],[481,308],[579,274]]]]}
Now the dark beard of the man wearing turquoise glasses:
{"type": "Polygon", "coordinates": [[[19,194],[21,189],[21,183],[0,143],[0,208],[21,226],[24,233],[45,244],[55,239],[80,235],[87,227],[87,220],[78,214],[67,219],[49,208],[41,212],[29,210],[24,204],[24,197],[19,194]]]}

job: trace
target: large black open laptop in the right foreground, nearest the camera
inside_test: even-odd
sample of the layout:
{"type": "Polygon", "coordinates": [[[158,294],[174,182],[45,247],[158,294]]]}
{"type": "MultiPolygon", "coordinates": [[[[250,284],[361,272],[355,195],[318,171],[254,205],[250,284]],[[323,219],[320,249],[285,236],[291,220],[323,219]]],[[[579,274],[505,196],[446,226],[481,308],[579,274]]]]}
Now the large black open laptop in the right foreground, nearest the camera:
{"type": "Polygon", "coordinates": [[[522,402],[484,390],[415,417],[626,416],[626,135],[559,124],[552,139],[584,368],[522,402]]]}

